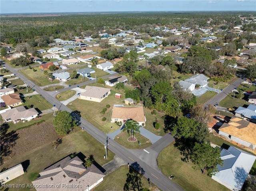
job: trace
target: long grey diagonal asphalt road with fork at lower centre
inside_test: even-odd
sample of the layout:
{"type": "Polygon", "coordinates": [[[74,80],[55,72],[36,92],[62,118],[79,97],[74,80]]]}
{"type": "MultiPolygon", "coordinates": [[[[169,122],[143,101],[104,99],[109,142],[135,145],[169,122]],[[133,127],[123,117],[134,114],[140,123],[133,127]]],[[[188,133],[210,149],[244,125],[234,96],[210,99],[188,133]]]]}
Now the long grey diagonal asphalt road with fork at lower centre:
{"type": "MultiPolygon", "coordinates": [[[[42,95],[48,102],[54,104],[58,110],[63,111],[66,110],[67,112],[72,112],[70,108],[63,105],[59,102],[55,97],[48,94],[48,92],[42,90],[40,87],[35,85],[32,81],[26,78],[24,75],[19,73],[20,69],[14,69],[9,65],[5,64],[5,67],[14,73],[17,77],[20,77],[22,81],[26,82],[32,89],[42,95]]],[[[69,87],[70,89],[74,88],[69,87]]],[[[84,128],[86,132],[88,132],[91,136],[93,136],[96,140],[102,143],[102,147],[106,142],[108,142],[108,150],[111,150],[114,154],[118,155],[121,159],[123,159],[126,163],[129,163],[131,166],[137,167],[138,165],[140,168],[143,169],[144,177],[149,179],[152,183],[154,183],[159,189],[162,191],[183,191],[181,187],[176,185],[170,179],[165,177],[160,170],[158,169],[156,158],[158,153],[168,144],[170,144],[174,139],[170,134],[166,134],[163,138],[158,140],[155,144],[150,146],[149,148],[144,150],[128,150],[121,146],[120,144],[116,143],[114,140],[107,140],[105,134],[103,134],[100,130],[94,127],[92,124],[81,118],[80,120],[80,127],[84,128]]],[[[104,153],[102,153],[102,157],[104,153]]]]}

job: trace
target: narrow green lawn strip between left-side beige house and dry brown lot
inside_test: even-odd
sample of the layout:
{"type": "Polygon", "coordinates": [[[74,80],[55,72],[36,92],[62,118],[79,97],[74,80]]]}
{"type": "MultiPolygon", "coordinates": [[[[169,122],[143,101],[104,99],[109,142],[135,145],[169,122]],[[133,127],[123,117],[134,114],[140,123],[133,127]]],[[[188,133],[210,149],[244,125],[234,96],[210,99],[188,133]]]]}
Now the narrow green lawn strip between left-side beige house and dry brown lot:
{"type": "Polygon", "coordinates": [[[34,120],[27,121],[27,122],[19,122],[16,124],[14,124],[13,122],[10,122],[8,123],[10,128],[8,129],[7,133],[11,131],[16,131],[18,129],[26,128],[27,126],[32,126],[33,124],[37,124],[46,120],[52,121],[53,118],[54,118],[53,113],[48,113],[48,114],[42,115],[40,118],[36,118],[34,120]]]}

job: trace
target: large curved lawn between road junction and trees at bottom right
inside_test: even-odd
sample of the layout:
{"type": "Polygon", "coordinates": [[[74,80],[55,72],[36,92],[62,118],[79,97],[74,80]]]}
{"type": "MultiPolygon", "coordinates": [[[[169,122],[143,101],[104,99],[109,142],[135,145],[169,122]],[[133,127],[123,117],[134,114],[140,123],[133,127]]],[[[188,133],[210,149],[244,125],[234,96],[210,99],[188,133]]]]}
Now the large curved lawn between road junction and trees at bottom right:
{"type": "Polygon", "coordinates": [[[200,169],[193,169],[191,162],[181,160],[180,151],[170,144],[162,150],[157,158],[158,167],[168,177],[174,176],[176,184],[187,191],[229,191],[226,187],[214,181],[200,169]]]}

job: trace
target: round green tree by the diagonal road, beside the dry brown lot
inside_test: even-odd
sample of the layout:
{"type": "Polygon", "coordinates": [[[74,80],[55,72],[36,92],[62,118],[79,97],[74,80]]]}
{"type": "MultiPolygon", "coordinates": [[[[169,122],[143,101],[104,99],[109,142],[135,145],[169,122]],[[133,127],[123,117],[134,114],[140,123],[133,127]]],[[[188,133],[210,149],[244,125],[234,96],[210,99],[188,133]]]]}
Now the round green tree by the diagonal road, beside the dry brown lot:
{"type": "Polygon", "coordinates": [[[76,121],[73,120],[69,112],[60,111],[54,118],[53,124],[57,134],[66,135],[76,126],[76,121]]]}

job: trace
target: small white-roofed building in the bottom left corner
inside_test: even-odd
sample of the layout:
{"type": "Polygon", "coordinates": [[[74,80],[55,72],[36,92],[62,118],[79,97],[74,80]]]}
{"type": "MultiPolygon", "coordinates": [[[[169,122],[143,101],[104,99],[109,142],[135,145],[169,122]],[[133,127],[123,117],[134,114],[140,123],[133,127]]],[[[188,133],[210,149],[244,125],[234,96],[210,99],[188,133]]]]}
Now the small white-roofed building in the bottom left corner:
{"type": "Polygon", "coordinates": [[[16,177],[24,174],[24,170],[22,164],[18,164],[14,167],[11,167],[0,173],[0,183],[2,184],[2,188],[4,188],[4,184],[8,181],[15,179],[16,177]]]}

